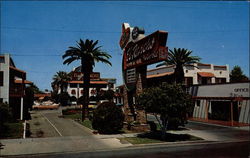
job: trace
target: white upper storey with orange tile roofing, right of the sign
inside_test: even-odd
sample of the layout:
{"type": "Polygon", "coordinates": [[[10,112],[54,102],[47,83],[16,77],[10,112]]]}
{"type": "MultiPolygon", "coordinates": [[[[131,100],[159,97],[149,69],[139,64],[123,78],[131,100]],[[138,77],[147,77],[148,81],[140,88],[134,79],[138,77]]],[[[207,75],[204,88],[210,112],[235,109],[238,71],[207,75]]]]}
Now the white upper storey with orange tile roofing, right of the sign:
{"type": "MultiPolygon", "coordinates": [[[[164,78],[174,73],[174,65],[163,66],[147,71],[147,79],[164,78]]],[[[184,77],[186,85],[211,84],[229,82],[229,66],[195,63],[184,66],[184,77]]]]}

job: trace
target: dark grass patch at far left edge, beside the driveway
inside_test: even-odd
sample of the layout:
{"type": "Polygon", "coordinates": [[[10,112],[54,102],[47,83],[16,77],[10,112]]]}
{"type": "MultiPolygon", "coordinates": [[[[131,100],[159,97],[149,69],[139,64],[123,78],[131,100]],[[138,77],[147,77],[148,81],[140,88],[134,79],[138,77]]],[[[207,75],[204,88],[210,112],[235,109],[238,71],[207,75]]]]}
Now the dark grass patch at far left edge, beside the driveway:
{"type": "Polygon", "coordinates": [[[22,122],[5,123],[4,129],[1,131],[0,138],[22,138],[23,124],[22,122]]]}

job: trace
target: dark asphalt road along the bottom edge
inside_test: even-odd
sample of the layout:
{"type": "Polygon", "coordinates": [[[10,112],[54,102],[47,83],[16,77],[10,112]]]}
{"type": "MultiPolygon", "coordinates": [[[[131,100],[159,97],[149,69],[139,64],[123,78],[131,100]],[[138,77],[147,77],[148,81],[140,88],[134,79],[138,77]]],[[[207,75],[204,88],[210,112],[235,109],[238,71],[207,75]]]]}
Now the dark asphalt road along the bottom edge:
{"type": "MultiPolygon", "coordinates": [[[[191,145],[134,146],[111,151],[26,155],[27,158],[247,158],[247,142],[211,142],[191,145]]],[[[17,156],[22,157],[22,156],[17,156]]]]}

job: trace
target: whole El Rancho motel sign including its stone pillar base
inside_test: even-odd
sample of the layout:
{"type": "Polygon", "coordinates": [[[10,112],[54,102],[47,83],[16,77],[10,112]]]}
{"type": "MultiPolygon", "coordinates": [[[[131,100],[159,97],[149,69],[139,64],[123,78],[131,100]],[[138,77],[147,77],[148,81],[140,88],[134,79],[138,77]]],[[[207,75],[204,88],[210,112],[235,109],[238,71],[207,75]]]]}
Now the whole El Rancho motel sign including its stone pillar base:
{"type": "Polygon", "coordinates": [[[167,37],[168,33],[165,31],[156,31],[145,36],[143,29],[130,27],[128,23],[122,24],[120,47],[123,50],[122,71],[126,87],[124,89],[124,110],[127,117],[125,121],[131,121],[134,117],[134,121],[146,123],[145,113],[133,109],[133,97],[146,87],[147,65],[167,59],[167,37]],[[135,111],[136,117],[133,114],[135,111]]]}

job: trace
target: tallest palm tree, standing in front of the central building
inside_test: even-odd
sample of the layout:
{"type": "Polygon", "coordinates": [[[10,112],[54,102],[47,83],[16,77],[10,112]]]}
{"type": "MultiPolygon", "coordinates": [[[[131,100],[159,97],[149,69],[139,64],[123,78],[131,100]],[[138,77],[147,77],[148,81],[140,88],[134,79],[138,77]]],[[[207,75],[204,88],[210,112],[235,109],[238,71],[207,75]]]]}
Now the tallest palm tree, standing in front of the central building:
{"type": "Polygon", "coordinates": [[[85,108],[89,103],[89,86],[90,86],[90,73],[93,72],[93,68],[95,66],[95,62],[103,62],[112,66],[108,59],[111,58],[106,52],[100,50],[101,46],[97,46],[98,40],[85,40],[80,39],[77,42],[76,47],[69,47],[69,49],[62,56],[64,60],[63,64],[70,64],[73,61],[80,60],[81,61],[81,72],[84,74],[83,77],[83,95],[84,101],[82,106],[82,121],[85,119],[85,108]]]}

